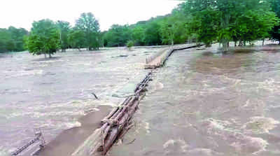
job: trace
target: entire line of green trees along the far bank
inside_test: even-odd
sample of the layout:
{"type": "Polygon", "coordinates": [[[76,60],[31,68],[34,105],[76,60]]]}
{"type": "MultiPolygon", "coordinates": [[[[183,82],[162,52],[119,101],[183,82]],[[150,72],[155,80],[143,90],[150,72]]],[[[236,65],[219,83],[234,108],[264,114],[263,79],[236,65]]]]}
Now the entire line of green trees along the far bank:
{"type": "Polygon", "coordinates": [[[173,45],[186,42],[210,46],[218,42],[227,50],[235,45],[253,44],[255,40],[280,40],[280,0],[186,0],[172,13],[153,17],[136,24],[113,24],[100,31],[92,13],[82,13],[76,24],[40,20],[25,29],[0,29],[0,51],[29,50],[34,55],[48,54],[67,48],[125,45],[173,45]],[[25,44],[24,44],[25,43],[25,44]]]}

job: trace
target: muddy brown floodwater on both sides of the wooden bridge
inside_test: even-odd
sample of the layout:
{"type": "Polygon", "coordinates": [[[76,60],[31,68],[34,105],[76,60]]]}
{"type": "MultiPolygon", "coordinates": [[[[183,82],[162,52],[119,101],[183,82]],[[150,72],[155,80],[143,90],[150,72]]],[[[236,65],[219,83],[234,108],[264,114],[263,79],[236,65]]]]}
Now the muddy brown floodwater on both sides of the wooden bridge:
{"type": "MultiPolygon", "coordinates": [[[[174,52],[109,155],[279,155],[279,46],[216,48],[174,52]]],[[[0,155],[32,139],[33,127],[55,155],[69,155],[109,110],[99,106],[131,94],[148,72],[145,58],[158,50],[1,55],[0,155]]]]}

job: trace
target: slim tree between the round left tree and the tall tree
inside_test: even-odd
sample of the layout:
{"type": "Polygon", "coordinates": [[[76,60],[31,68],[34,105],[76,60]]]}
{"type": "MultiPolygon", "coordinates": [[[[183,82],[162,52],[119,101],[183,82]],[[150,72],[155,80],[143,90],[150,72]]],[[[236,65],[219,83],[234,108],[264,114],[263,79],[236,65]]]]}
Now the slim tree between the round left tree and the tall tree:
{"type": "Polygon", "coordinates": [[[65,52],[67,48],[69,48],[69,32],[70,32],[70,23],[64,21],[57,21],[57,28],[59,30],[59,41],[60,41],[60,48],[62,52],[65,52]]]}

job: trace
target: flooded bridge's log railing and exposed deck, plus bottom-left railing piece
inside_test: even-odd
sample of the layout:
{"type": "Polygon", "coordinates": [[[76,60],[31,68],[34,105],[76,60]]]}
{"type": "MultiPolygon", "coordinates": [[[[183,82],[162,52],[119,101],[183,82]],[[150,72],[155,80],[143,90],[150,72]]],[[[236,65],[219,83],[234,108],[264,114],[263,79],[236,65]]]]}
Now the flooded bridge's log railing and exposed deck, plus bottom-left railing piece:
{"type": "MultiPolygon", "coordinates": [[[[146,94],[146,87],[150,83],[153,77],[153,69],[157,69],[164,66],[168,57],[176,50],[185,50],[190,48],[200,47],[202,45],[179,45],[171,48],[165,48],[155,55],[146,59],[145,69],[152,69],[146,77],[141,80],[134,90],[134,95],[127,97],[123,104],[117,108],[113,108],[111,113],[107,115],[101,122],[101,127],[95,129],[83,144],[71,154],[71,156],[87,156],[87,155],[106,155],[113,143],[118,139],[122,139],[125,133],[132,127],[132,116],[137,111],[141,99],[146,94]]],[[[25,146],[18,148],[11,155],[21,155],[27,148],[30,148],[35,143],[38,144],[38,148],[31,154],[25,153],[25,155],[37,155],[38,151],[45,147],[45,140],[41,129],[34,129],[35,138],[29,141],[25,146]]],[[[33,147],[34,148],[34,147],[33,147]]]]}

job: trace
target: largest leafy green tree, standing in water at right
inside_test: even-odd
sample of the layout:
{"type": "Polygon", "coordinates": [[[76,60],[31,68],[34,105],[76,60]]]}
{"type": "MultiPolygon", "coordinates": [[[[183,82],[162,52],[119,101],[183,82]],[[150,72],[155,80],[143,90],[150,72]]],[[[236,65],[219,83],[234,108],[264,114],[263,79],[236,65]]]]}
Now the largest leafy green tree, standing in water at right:
{"type": "Polygon", "coordinates": [[[199,41],[218,41],[225,51],[229,41],[262,39],[276,24],[269,3],[262,0],[189,0],[180,7],[192,16],[189,29],[199,41]]]}

